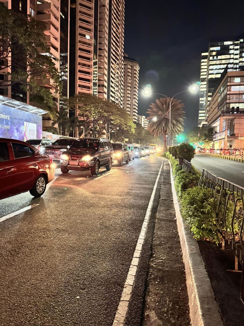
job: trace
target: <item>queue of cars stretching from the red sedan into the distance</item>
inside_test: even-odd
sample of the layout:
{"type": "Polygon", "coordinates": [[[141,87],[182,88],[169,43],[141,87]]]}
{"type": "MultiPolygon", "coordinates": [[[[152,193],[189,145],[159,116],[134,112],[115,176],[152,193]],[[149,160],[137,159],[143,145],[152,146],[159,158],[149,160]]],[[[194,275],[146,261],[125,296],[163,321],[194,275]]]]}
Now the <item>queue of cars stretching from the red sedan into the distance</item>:
{"type": "Polygon", "coordinates": [[[61,137],[52,143],[47,139],[27,142],[0,138],[0,199],[30,191],[34,197],[44,194],[54,179],[53,160],[60,161],[62,173],[90,170],[97,175],[101,167],[111,170],[135,157],[152,154],[150,147],[134,147],[105,138],[61,137]]]}

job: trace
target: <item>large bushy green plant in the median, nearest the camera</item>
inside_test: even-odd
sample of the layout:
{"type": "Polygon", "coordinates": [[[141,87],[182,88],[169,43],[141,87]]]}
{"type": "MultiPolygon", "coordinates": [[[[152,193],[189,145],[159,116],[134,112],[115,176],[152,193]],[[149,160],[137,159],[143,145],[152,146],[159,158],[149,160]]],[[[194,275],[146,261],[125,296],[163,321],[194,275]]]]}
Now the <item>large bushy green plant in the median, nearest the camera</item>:
{"type": "Polygon", "coordinates": [[[196,240],[220,241],[220,226],[215,215],[211,190],[202,187],[187,189],[181,198],[181,212],[196,240]]]}

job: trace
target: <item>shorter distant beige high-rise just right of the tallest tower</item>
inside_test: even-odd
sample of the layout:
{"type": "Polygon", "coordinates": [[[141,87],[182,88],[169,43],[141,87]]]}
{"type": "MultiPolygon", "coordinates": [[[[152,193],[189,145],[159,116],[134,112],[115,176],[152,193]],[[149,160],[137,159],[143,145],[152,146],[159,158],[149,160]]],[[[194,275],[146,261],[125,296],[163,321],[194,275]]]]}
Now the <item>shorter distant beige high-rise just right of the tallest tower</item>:
{"type": "Polygon", "coordinates": [[[137,121],[140,66],[135,59],[124,55],[124,109],[137,121]]]}

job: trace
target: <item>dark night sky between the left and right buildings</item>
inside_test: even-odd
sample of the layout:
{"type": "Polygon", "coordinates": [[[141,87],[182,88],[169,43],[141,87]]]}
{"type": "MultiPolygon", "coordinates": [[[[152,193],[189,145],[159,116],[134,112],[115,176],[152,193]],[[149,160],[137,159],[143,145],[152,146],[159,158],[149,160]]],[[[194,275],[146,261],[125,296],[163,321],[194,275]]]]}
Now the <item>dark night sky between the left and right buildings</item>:
{"type": "MultiPolygon", "coordinates": [[[[125,0],[125,53],[140,64],[139,90],[147,84],[172,96],[200,79],[201,52],[211,41],[244,34],[243,1],[125,0]]],[[[139,95],[138,114],[149,99],[139,95]]],[[[176,98],[185,104],[185,132],[197,126],[198,94],[176,98]]]]}

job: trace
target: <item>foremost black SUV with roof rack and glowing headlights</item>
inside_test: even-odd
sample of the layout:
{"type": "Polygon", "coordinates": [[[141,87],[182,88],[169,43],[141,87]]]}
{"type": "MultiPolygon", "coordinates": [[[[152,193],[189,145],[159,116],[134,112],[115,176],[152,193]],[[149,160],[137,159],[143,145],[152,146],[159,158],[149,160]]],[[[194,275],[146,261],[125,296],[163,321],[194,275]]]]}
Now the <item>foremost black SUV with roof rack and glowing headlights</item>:
{"type": "Polygon", "coordinates": [[[80,138],[61,154],[60,167],[62,173],[90,170],[91,175],[97,175],[102,166],[111,170],[113,160],[114,150],[108,139],[80,138]]]}

